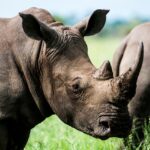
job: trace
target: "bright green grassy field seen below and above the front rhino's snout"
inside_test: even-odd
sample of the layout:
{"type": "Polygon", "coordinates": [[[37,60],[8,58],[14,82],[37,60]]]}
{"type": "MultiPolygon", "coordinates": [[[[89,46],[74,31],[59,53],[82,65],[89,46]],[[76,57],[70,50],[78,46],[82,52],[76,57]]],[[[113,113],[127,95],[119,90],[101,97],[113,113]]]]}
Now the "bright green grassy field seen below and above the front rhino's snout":
{"type": "MultiPolygon", "coordinates": [[[[111,61],[114,50],[120,43],[115,38],[87,38],[89,56],[97,67],[108,59],[111,61]]],[[[92,138],[62,123],[53,115],[37,125],[25,150],[120,150],[123,142],[118,138],[106,141],[92,138]]]]}

